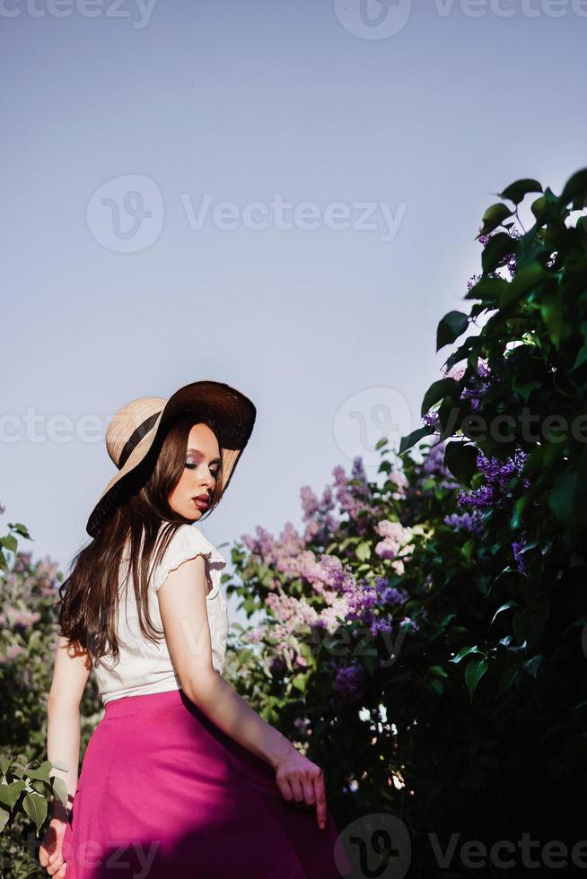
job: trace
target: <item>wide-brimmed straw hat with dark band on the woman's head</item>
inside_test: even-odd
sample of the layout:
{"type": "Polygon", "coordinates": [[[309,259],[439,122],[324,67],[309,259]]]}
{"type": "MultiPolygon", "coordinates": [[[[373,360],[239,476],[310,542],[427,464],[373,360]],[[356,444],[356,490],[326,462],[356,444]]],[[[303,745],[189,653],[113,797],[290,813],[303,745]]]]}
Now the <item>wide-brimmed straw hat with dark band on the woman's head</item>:
{"type": "Polygon", "coordinates": [[[96,536],[118,506],[130,474],[135,474],[165,425],[188,413],[194,414],[195,423],[203,417],[215,426],[222,459],[222,490],[226,491],[255,423],[257,410],[250,399],[219,381],[194,381],[180,387],[167,400],[161,396],[141,396],[118,409],[106,431],[106,448],[118,474],[110,479],[88,518],[86,531],[91,537],[96,536]]]}

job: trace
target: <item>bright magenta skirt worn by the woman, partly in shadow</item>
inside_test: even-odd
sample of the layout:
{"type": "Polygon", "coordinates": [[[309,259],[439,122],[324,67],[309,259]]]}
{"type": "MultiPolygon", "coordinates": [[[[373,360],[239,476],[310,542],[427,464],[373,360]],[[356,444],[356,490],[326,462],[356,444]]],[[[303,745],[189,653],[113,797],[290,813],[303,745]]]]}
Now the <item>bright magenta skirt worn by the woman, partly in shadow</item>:
{"type": "Polygon", "coordinates": [[[63,857],[66,879],[338,879],[350,870],[330,812],[321,831],[315,807],[285,800],[269,764],[182,690],[106,704],[63,857]]]}

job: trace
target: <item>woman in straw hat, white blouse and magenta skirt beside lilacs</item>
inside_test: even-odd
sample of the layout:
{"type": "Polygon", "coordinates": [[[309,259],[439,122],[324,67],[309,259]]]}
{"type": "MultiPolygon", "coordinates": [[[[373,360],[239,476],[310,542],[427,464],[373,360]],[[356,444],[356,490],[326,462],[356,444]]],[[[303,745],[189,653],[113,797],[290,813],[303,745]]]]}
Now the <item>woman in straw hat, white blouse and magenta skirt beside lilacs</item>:
{"type": "Polygon", "coordinates": [[[48,760],[68,807],[54,802],[39,852],[57,879],[330,879],[341,875],[336,864],[346,870],[322,770],[220,674],[225,560],[193,524],[223,497],[255,417],[235,388],[199,381],[167,401],[141,397],[110,422],[118,473],[88,520],[92,543],[60,587],[48,760]],[[104,716],[78,782],[92,667],[104,716]]]}

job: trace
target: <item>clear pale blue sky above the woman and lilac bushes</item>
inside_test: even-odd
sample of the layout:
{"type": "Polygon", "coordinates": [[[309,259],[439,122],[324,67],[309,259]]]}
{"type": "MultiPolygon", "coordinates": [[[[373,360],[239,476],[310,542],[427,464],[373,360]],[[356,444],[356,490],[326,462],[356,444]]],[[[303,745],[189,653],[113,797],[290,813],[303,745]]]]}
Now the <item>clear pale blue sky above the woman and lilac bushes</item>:
{"type": "Polygon", "coordinates": [[[587,164],[581,0],[0,6],[0,501],[63,567],[110,416],[197,379],[258,406],[206,536],[298,525],[419,426],[492,194],[587,164]]]}

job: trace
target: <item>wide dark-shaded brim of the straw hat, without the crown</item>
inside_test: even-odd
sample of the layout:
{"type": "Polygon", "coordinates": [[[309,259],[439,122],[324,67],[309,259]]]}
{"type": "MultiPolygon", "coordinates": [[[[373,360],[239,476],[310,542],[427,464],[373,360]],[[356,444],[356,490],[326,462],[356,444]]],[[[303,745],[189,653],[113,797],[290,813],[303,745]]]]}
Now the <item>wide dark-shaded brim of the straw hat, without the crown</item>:
{"type": "MultiPolygon", "coordinates": [[[[158,398],[153,398],[157,400],[158,398]]],[[[162,410],[145,436],[140,439],[101,493],[88,518],[86,531],[95,537],[104,522],[118,506],[130,483],[136,479],[140,465],[149,463],[151,449],[158,452],[160,439],[167,424],[180,415],[193,414],[209,419],[215,427],[222,458],[222,492],[231,481],[234,468],[250,439],[257,410],[249,397],[235,387],[219,381],[194,381],[180,387],[168,400],[161,398],[162,410]]],[[[158,407],[157,407],[158,408],[158,407]]],[[[114,416],[116,418],[116,415],[114,416]]],[[[153,417],[153,416],[152,416],[153,417]]],[[[154,460],[153,460],[154,465],[154,460]]]]}

